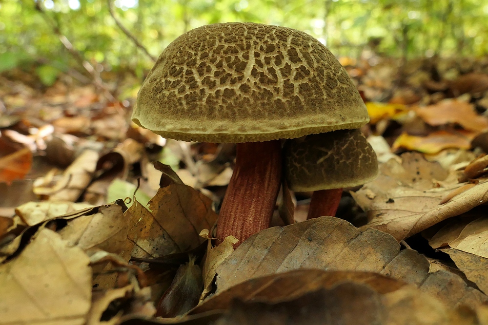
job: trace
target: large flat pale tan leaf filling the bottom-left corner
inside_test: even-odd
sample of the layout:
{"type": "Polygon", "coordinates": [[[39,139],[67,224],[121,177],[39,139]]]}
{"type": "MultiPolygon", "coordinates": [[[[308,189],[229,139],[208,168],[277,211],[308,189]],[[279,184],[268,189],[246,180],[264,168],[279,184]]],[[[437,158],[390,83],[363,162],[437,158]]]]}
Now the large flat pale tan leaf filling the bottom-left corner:
{"type": "Polygon", "coordinates": [[[0,265],[0,324],[81,325],[91,304],[88,256],[41,229],[0,265]]]}

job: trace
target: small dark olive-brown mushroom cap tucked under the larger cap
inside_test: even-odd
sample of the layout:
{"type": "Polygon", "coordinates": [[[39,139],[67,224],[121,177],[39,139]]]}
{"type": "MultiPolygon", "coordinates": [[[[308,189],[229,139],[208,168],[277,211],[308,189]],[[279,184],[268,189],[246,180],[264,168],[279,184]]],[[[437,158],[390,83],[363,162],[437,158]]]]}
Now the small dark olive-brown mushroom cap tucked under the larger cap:
{"type": "Polygon", "coordinates": [[[378,160],[359,130],[310,134],[284,148],[291,190],[320,191],[365,184],[378,174],[378,160]]]}

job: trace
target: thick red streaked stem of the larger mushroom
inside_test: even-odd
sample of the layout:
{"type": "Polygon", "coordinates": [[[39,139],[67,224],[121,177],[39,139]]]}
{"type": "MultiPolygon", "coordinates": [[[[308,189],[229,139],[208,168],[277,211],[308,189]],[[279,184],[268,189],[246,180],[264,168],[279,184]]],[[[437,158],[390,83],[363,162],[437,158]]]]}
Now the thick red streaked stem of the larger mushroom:
{"type": "Polygon", "coordinates": [[[239,246],[252,234],[269,228],[281,184],[281,143],[237,144],[234,173],[225,192],[217,239],[232,235],[239,246]]]}

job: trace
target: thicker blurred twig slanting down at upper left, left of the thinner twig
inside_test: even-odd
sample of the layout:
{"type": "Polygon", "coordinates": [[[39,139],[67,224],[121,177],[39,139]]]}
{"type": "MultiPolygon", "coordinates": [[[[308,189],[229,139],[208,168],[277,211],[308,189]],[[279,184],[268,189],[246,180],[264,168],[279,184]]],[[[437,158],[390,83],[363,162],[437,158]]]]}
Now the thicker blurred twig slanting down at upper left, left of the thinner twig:
{"type": "Polygon", "coordinates": [[[97,87],[97,89],[101,90],[103,95],[111,102],[115,102],[115,98],[114,96],[112,96],[112,94],[110,93],[110,91],[108,90],[108,87],[103,83],[103,80],[102,78],[100,77],[100,74],[98,73],[98,71],[93,67],[93,65],[91,65],[90,62],[88,62],[87,60],[84,59],[84,57],[81,55],[80,52],[78,52],[75,47],[73,46],[73,44],[69,41],[68,38],[66,38],[66,36],[64,36],[62,33],[61,33],[61,30],[59,28],[59,26],[55,25],[50,17],[47,15],[47,13],[44,11],[44,9],[42,8],[41,6],[41,1],[38,1],[36,2],[36,10],[39,11],[41,14],[42,14],[42,17],[44,17],[44,19],[46,20],[46,22],[51,25],[52,29],[53,29],[53,32],[54,34],[56,34],[58,36],[58,38],[60,39],[61,43],[64,45],[64,47],[66,48],[66,50],[68,50],[68,52],[73,56],[75,57],[75,59],[83,66],[83,68],[85,68],[85,70],[93,77],[93,82],[95,84],[95,87],[97,87]]]}

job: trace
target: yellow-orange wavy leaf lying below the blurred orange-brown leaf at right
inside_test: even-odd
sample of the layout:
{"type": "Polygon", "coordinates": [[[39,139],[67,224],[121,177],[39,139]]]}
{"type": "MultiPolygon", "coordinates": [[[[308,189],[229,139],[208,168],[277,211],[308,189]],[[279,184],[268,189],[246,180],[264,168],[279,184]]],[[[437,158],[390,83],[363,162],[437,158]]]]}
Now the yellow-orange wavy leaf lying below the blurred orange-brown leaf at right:
{"type": "Polygon", "coordinates": [[[438,153],[447,148],[469,149],[471,148],[471,140],[477,133],[468,131],[436,131],[427,136],[409,135],[407,133],[400,134],[396,138],[392,150],[405,148],[407,150],[415,150],[421,153],[438,153]]]}

